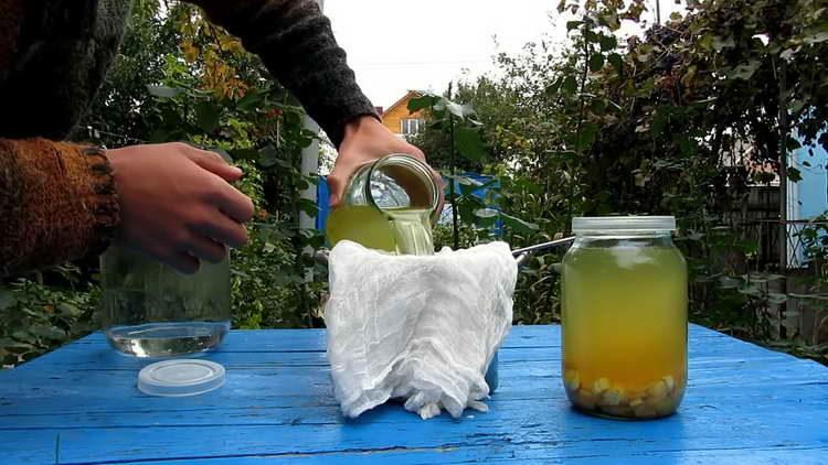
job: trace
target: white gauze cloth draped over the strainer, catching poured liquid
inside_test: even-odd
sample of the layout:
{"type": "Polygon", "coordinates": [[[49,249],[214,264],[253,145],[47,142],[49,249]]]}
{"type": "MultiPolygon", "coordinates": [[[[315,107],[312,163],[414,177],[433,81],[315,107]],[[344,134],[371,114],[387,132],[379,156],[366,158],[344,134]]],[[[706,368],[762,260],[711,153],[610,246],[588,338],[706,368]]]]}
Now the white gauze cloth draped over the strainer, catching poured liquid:
{"type": "Polygon", "coordinates": [[[507,244],[415,257],[341,241],[328,267],[328,360],[344,415],[391,398],[423,419],[487,410],[484,376],[511,327],[518,279],[507,244]]]}

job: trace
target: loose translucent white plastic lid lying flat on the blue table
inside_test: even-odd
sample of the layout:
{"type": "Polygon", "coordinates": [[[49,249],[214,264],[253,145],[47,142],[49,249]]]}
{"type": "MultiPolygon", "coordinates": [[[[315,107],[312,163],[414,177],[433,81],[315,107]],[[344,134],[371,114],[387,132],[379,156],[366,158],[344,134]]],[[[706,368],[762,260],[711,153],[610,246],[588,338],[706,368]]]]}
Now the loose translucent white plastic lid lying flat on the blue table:
{"type": "Polygon", "coordinates": [[[163,360],[141,369],[138,389],[149,396],[198,396],[221,388],[224,376],[224,367],[213,361],[163,360]]]}

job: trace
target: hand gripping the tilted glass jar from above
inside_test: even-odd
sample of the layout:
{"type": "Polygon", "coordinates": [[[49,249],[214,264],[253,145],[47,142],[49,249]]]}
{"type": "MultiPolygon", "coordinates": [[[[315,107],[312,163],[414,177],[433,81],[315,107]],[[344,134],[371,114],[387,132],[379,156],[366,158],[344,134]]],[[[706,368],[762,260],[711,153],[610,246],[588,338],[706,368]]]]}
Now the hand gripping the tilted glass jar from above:
{"type": "MultiPolygon", "coordinates": [[[[425,162],[422,150],[394,136],[376,118],[360,117],[346,125],[339,156],[337,156],[333,171],[328,176],[331,206],[337,207],[342,202],[348,181],[357,169],[391,153],[405,153],[425,162]]],[[[439,188],[442,205],[443,179],[436,171],[432,170],[432,173],[439,188]]]]}

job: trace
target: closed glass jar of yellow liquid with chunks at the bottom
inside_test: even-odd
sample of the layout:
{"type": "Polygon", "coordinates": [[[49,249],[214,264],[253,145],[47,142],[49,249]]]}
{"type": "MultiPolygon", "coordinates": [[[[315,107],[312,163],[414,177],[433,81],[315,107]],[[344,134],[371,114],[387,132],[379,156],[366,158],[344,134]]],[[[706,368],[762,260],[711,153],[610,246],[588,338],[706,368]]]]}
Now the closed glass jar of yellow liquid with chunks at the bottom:
{"type": "Polygon", "coordinates": [[[672,414],[687,386],[687,263],[671,216],[574,218],[563,259],[563,381],[586,413],[672,414]]]}

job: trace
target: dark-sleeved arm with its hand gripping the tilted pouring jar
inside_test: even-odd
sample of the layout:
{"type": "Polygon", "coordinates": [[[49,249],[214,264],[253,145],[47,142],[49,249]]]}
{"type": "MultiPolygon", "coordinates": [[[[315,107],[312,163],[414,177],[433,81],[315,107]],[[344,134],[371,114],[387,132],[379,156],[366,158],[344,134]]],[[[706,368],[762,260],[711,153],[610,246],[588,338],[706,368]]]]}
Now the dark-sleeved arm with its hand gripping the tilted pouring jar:
{"type": "MultiPolygon", "coordinates": [[[[189,1],[258,54],[331,139],[339,151],[328,176],[333,206],[360,165],[390,153],[425,160],[420,149],[382,125],[316,0],[189,1]]],[[[442,185],[437,173],[434,177],[442,185]]]]}

